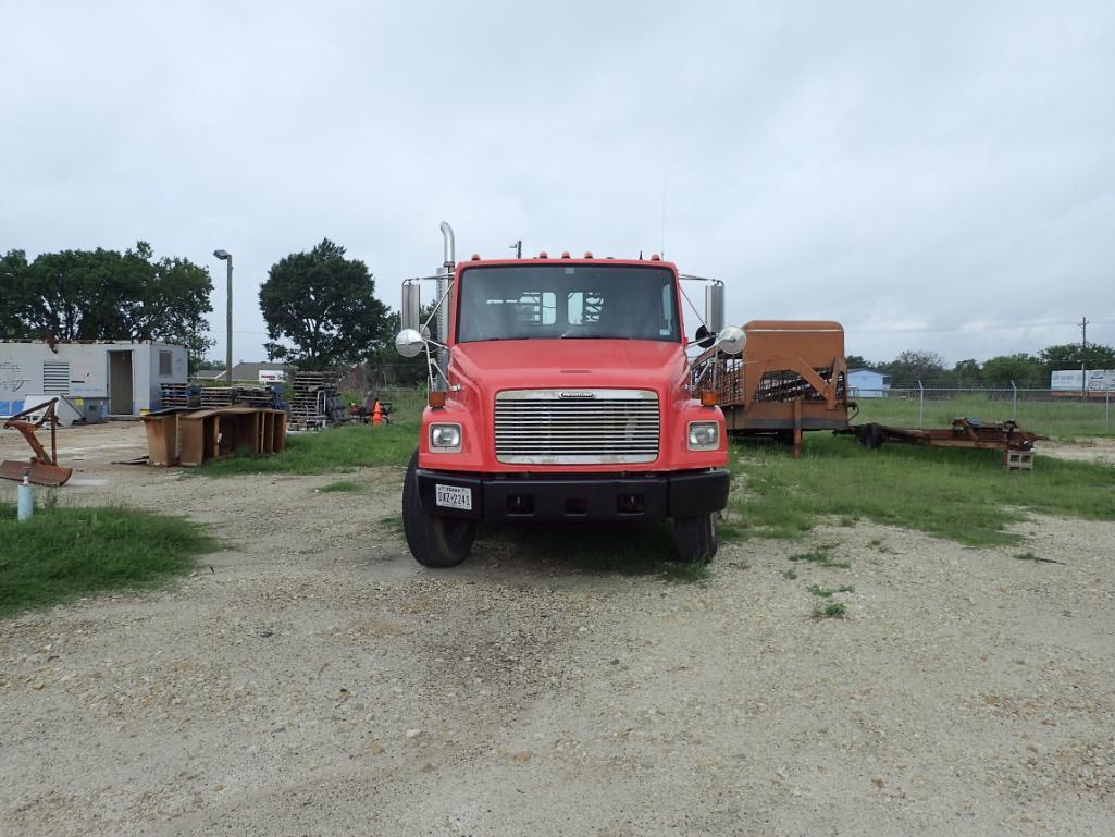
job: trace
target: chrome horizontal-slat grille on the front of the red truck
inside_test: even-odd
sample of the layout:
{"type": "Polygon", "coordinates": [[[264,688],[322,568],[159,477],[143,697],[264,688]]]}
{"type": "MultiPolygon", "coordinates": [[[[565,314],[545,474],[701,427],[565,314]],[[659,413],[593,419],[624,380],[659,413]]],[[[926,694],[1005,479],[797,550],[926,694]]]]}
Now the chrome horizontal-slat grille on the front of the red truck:
{"type": "Polygon", "coordinates": [[[658,437],[652,389],[511,389],[495,397],[500,462],[653,462],[658,437]]]}

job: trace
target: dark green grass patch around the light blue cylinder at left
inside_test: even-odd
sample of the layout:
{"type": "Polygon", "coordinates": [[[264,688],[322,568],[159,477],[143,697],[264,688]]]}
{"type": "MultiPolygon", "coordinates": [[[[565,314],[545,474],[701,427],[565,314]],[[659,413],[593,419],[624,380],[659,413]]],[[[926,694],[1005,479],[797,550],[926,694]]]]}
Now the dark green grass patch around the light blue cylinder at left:
{"type": "Polygon", "coordinates": [[[158,586],[196,567],[216,541],[195,523],[120,508],[40,509],[23,522],[0,506],[0,618],[79,596],[158,586]]]}

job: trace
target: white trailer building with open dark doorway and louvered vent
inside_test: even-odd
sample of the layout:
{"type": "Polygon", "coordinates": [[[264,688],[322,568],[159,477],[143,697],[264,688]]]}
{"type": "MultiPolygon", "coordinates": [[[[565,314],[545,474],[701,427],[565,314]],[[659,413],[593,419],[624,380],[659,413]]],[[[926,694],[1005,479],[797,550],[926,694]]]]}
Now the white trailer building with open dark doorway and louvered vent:
{"type": "Polygon", "coordinates": [[[186,383],[186,349],[149,340],[0,340],[0,415],[56,395],[107,398],[109,415],[159,407],[162,384],[186,383]]]}

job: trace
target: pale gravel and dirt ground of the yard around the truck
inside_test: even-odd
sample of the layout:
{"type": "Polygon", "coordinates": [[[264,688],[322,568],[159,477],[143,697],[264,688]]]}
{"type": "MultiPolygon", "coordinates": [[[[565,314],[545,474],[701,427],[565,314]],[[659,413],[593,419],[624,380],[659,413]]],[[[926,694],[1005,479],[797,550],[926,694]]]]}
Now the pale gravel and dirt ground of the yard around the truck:
{"type": "Polygon", "coordinates": [[[1021,527],[1063,564],[863,523],[813,536],[847,569],[752,541],[683,585],[494,539],[432,571],[380,522],[399,470],[317,493],[109,464],[138,425],[61,445],[66,501],[226,548],[0,624],[0,834],[1115,834],[1113,523],[1021,527]]]}

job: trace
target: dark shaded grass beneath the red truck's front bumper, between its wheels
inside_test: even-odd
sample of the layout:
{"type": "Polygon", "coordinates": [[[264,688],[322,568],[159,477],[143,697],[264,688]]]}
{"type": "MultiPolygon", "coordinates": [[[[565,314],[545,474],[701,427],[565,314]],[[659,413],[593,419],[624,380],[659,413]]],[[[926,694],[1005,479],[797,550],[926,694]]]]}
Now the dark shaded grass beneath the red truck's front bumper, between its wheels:
{"type": "Polygon", "coordinates": [[[659,576],[691,584],[709,577],[706,564],[677,560],[668,521],[638,523],[524,523],[482,527],[484,540],[507,541],[515,552],[572,565],[585,573],[659,576]]]}

